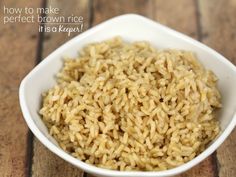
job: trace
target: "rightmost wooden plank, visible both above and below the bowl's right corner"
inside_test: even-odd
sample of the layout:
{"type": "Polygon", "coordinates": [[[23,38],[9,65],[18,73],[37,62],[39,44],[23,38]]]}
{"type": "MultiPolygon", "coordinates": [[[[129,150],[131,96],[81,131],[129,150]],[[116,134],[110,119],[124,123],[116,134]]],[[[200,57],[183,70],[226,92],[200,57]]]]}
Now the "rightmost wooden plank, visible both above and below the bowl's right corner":
{"type": "MultiPolygon", "coordinates": [[[[236,64],[236,0],[199,0],[203,42],[236,64]]],[[[236,130],[217,150],[219,176],[236,176],[236,130]]]]}

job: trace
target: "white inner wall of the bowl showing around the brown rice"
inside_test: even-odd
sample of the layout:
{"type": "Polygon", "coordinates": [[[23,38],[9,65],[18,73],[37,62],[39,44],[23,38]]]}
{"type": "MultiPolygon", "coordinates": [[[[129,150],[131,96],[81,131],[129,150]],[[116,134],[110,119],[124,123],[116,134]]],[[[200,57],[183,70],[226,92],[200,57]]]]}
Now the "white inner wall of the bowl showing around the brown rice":
{"type": "Polygon", "coordinates": [[[62,67],[63,56],[77,56],[78,51],[86,44],[121,36],[124,40],[132,42],[146,40],[156,48],[174,48],[190,50],[196,53],[198,59],[217,77],[218,88],[222,95],[223,108],[218,113],[222,131],[226,129],[236,111],[236,69],[226,59],[178,32],[152,22],[144,17],[126,15],[105,22],[65,43],[49,55],[24,79],[23,98],[27,110],[38,129],[55,145],[57,143],[48,134],[38,111],[41,106],[41,94],[51,88],[55,82],[55,75],[62,67]]]}

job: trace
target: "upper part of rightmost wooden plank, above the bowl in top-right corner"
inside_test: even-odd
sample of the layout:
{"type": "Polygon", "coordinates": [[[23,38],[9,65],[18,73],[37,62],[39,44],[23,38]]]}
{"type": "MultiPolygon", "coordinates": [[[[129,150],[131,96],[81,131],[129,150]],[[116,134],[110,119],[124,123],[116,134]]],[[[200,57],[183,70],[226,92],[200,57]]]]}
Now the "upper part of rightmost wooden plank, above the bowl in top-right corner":
{"type": "Polygon", "coordinates": [[[236,0],[199,0],[199,7],[202,41],[236,64],[236,0]]]}

